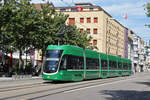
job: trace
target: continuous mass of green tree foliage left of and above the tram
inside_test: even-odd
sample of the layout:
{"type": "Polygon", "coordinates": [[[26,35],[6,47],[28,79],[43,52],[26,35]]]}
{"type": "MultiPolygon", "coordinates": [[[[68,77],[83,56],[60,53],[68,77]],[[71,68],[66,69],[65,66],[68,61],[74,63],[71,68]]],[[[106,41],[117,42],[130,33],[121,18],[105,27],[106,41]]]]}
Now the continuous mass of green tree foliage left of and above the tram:
{"type": "Polygon", "coordinates": [[[76,45],[91,48],[91,37],[80,34],[76,26],[66,25],[69,17],[56,12],[51,3],[37,9],[31,0],[0,0],[0,50],[19,51],[20,68],[22,54],[27,49],[41,49],[48,45],[76,45]]]}

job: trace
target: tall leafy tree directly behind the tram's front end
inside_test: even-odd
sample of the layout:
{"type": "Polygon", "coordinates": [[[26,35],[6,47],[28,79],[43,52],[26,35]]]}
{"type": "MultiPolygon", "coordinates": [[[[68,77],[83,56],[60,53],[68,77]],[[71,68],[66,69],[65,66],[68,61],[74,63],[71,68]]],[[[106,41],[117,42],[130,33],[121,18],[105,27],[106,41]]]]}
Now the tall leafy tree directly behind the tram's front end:
{"type": "MultiPolygon", "coordinates": [[[[36,33],[33,35],[32,45],[36,49],[42,50],[42,60],[43,54],[49,44],[56,44],[58,40],[57,30],[58,24],[61,25],[64,17],[56,14],[51,3],[41,4],[41,10],[39,13],[39,21],[36,26],[36,33]]],[[[65,21],[63,22],[63,24],[65,21]]]]}

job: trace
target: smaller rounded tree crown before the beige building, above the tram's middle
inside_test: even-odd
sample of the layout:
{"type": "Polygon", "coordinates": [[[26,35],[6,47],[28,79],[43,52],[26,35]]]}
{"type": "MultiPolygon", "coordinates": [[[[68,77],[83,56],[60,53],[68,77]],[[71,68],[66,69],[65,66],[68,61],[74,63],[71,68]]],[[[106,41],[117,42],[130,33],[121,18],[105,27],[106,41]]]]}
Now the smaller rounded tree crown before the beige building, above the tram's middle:
{"type": "Polygon", "coordinates": [[[87,36],[86,32],[80,33],[76,26],[66,25],[61,31],[63,31],[63,34],[60,37],[60,39],[62,39],[61,44],[76,45],[82,48],[88,48],[88,42],[92,39],[87,36]]]}

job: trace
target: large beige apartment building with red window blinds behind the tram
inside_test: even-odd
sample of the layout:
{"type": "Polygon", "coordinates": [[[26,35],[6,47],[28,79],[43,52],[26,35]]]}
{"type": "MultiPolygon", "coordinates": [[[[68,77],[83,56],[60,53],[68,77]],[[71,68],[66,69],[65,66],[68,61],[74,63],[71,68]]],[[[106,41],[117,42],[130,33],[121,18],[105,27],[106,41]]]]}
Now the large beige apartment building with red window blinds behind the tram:
{"type": "Polygon", "coordinates": [[[69,15],[67,24],[76,25],[81,33],[86,31],[92,36],[93,40],[90,43],[97,46],[99,52],[121,57],[127,55],[126,28],[103,8],[91,3],[76,3],[72,7],[55,7],[55,9],[69,15]]]}

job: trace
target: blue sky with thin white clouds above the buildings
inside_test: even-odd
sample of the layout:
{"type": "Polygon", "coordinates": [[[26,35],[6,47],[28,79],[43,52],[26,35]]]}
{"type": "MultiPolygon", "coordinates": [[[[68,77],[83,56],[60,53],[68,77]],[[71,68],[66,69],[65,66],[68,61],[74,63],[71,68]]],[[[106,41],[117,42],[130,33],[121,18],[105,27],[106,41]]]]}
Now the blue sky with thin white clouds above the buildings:
{"type": "MultiPolygon", "coordinates": [[[[55,7],[74,6],[74,3],[88,2],[102,7],[123,26],[131,29],[145,42],[150,40],[150,17],[146,16],[145,5],[150,0],[47,0],[55,7]],[[127,14],[127,20],[124,16],[127,14]]],[[[32,0],[32,3],[43,3],[42,0],[32,0]]]]}

